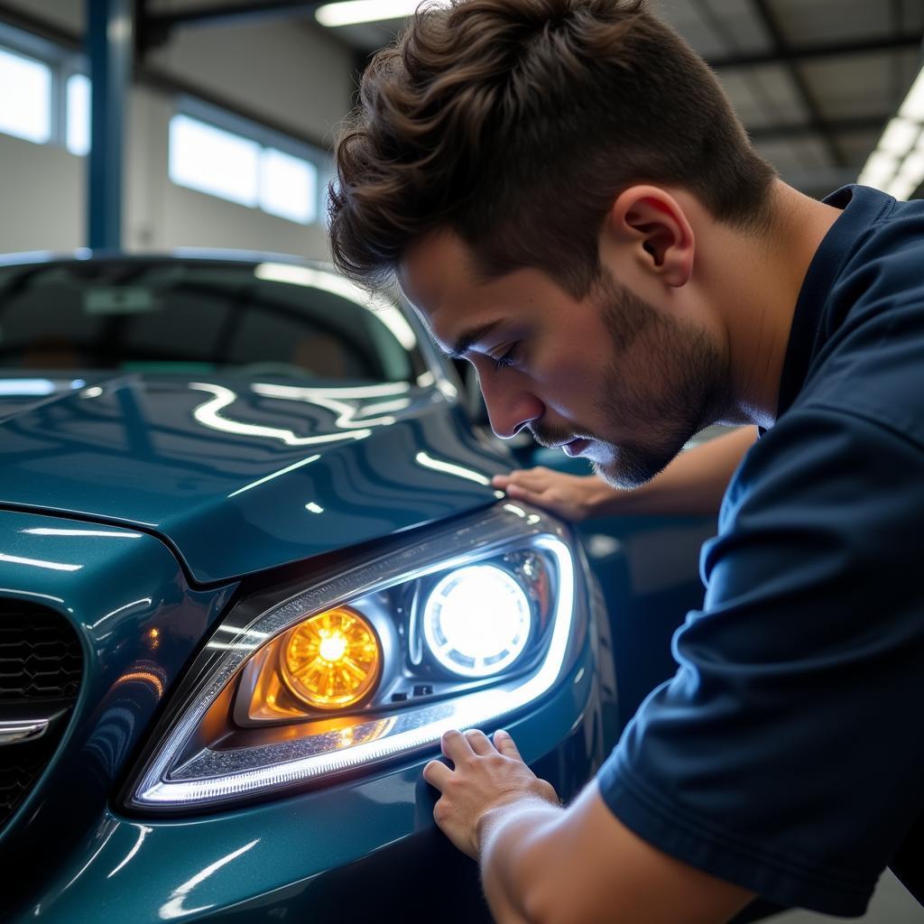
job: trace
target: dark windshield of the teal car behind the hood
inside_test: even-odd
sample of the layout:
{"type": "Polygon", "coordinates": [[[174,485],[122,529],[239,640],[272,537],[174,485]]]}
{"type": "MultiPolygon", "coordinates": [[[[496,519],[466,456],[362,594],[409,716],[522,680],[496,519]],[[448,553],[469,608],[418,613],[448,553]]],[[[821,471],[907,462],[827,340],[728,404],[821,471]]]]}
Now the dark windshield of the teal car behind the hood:
{"type": "Polygon", "coordinates": [[[394,304],[286,263],[122,260],[0,267],[0,365],[411,382],[394,304]]]}

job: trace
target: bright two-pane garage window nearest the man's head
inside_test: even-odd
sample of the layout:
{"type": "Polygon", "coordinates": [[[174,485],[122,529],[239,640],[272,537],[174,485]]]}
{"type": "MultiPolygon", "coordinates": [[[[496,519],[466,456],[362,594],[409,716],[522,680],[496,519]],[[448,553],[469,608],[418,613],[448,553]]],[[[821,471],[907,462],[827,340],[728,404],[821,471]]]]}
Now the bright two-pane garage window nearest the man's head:
{"type": "Polygon", "coordinates": [[[170,120],[170,179],[299,225],[317,221],[317,166],[260,134],[255,128],[258,137],[247,137],[178,113],[170,120]]]}

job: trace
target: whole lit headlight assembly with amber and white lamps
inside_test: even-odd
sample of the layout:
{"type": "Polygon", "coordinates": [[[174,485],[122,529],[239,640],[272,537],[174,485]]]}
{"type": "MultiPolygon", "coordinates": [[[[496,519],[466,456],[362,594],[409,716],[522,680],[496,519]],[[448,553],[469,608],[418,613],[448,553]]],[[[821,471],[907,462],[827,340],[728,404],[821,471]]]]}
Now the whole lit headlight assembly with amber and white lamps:
{"type": "Polygon", "coordinates": [[[498,505],[246,599],[190,670],[126,802],[225,805],[496,723],[565,673],[576,594],[564,530],[498,505]]]}

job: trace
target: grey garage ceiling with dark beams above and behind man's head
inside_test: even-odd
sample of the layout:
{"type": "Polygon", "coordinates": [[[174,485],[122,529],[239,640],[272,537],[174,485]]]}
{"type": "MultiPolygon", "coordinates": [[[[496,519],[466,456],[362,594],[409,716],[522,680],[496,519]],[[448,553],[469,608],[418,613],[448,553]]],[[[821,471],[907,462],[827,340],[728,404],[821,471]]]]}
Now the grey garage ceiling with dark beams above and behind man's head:
{"type": "MultiPolygon", "coordinates": [[[[139,0],[140,6],[142,0],[139,0]]],[[[149,16],[205,25],[257,15],[314,23],[298,0],[143,0],[149,16]],[[201,17],[200,17],[201,14],[201,17]],[[211,15],[210,15],[211,14],[211,15]]],[[[856,180],[921,66],[920,0],[653,0],[715,68],[760,152],[821,196],[856,180]]],[[[327,30],[361,66],[401,20],[327,30]]]]}

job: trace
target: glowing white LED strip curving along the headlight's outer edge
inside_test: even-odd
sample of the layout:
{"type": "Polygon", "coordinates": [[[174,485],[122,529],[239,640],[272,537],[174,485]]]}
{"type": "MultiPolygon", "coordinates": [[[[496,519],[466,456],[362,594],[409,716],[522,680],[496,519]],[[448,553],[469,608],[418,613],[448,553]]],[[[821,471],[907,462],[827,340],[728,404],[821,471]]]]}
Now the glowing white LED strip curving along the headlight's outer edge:
{"type": "MultiPolygon", "coordinates": [[[[432,747],[450,728],[471,728],[492,722],[541,697],[553,687],[565,663],[575,609],[574,561],[567,545],[560,539],[547,534],[534,537],[531,541],[529,537],[524,539],[527,539],[533,548],[544,549],[553,556],[557,565],[559,589],[549,648],[539,669],[530,675],[526,682],[511,689],[480,690],[456,700],[444,700],[431,706],[401,712],[387,719],[355,726],[350,730],[350,736],[366,736],[366,740],[347,747],[342,746],[344,733],[332,732],[262,748],[241,748],[237,752],[220,752],[206,748],[171,774],[168,772],[168,766],[173,756],[201,721],[213,699],[225,687],[228,676],[222,672],[210,686],[205,697],[200,700],[198,708],[188,715],[187,721],[179,723],[167,736],[164,747],[141,778],[136,790],[137,795],[133,799],[134,803],[149,807],[180,807],[218,802],[229,796],[252,793],[297,780],[316,779],[327,773],[395,757],[419,748],[432,747]],[[383,724],[386,727],[381,727],[383,724]],[[373,736],[371,740],[369,736],[373,736]],[[264,758],[269,757],[274,748],[277,754],[287,752],[292,755],[293,752],[298,752],[299,748],[308,751],[311,748],[320,748],[321,752],[297,754],[289,760],[280,760],[272,765],[254,769],[228,768],[231,772],[222,772],[221,775],[213,777],[203,778],[201,775],[203,772],[214,771],[225,763],[235,763],[236,758],[253,760],[259,759],[261,755],[264,758]],[[182,776],[194,778],[179,778],[182,776]]],[[[470,553],[459,558],[470,561],[470,553]]],[[[453,563],[441,562],[439,566],[442,570],[444,566],[453,566],[453,563]]],[[[294,602],[297,603],[298,599],[294,602]]],[[[277,617],[274,622],[278,621],[280,614],[285,614],[285,621],[291,622],[291,614],[287,614],[286,611],[292,603],[272,611],[272,615],[277,617]]],[[[246,660],[249,654],[240,651],[236,653],[237,657],[232,665],[234,668],[246,660]]]]}

